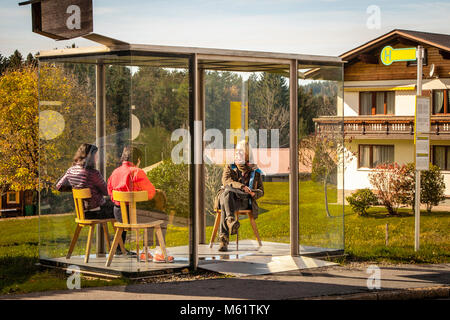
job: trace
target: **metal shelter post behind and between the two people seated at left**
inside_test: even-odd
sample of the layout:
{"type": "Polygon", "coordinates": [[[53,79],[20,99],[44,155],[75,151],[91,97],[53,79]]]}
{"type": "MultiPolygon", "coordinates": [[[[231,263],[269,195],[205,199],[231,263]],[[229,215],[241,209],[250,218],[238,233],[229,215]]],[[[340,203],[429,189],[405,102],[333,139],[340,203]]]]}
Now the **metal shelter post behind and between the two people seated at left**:
{"type": "MultiPolygon", "coordinates": [[[[95,69],[95,84],[96,84],[96,105],[95,105],[95,117],[96,117],[96,144],[98,147],[98,163],[97,169],[102,176],[106,179],[106,150],[105,150],[105,118],[106,118],[106,79],[105,79],[105,65],[99,63],[95,69]]],[[[96,248],[97,257],[105,256],[105,241],[103,237],[103,228],[101,224],[97,224],[97,236],[96,236],[96,248]]]]}

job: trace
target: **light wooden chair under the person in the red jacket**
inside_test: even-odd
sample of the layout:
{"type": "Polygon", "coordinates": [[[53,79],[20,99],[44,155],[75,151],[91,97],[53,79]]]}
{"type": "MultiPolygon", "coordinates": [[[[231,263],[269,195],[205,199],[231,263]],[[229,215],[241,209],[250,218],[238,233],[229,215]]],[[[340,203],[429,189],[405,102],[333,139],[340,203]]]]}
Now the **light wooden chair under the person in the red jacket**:
{"type": "Polygon", "coordinates": [[[120,202],[120,210],[122,213],[122,222],[115,222],[114,227],[116,228],[116,234],[114,236],[114,241],[111,246],[111,250],[109,252],[108,260],[106,261],[106,266],[109,267],[111,265],[112,259],[114,257],[114,252],[117,248],[117,245],[120,243],[122,239],[122,232],[124,230],[135,230],[136,231],[136,256],[137,261],[139,262],[139,231],[144,230],[144,252],[145,252],[145,260],[148,260],[148,234],[147,229],[155,228],[156,236],[159,241],[159,245],[161,247],[162,254],[166,262],[167,260],[167,252],[166,245],[164,242],[164,237],[161,231],[161,224],[164,223],[163,220],[157,220],[150,223],[138,223],[137,222],[137,214],[136,214],[136,202],[140,201],[148,201],[148,192],[147,191],[131,191],[131,192],[122,192],[122,191],[113,191],[113,198],[115,201],[120,202]],[[128,211],[127,211],[128,208],[128,211]]]}

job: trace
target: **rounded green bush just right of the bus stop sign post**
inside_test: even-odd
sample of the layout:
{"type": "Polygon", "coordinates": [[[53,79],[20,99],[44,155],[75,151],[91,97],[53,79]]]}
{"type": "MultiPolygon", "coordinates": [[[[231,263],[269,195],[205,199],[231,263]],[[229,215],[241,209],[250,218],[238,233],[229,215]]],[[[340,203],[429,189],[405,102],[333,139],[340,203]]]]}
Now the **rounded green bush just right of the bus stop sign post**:
{"type": "Polygon", "coordinates": [[[420,175],[420,202],[427,205],[427,211],[431,212],[433,206],[445,199],[444,176],[438,166],[430,164],[430,169],[422,171],[420,175]]]}

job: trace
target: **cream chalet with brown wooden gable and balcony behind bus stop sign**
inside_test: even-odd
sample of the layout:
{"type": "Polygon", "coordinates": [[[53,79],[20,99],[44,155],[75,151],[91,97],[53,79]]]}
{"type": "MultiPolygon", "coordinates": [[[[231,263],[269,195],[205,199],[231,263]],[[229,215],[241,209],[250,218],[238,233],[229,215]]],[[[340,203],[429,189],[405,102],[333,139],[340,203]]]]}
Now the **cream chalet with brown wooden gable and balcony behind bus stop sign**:
{"type": "Polygon", "coordinates": [[[342,54],[347,63],[338,116],[314,119],[317,132],[342,130],[343,125],[346,148],[355,154],[345,164],[344,186],[338,185],[346,195],[370,188],[368,174],[380,163],[414,162],[417,64],[386,66],[380,53],[385,46],[418,45],[425,49],[422,94],[431,98],[430,161],[441,168],[450,196],[450,35],[409,30],[393,30],[342,54]]]}

